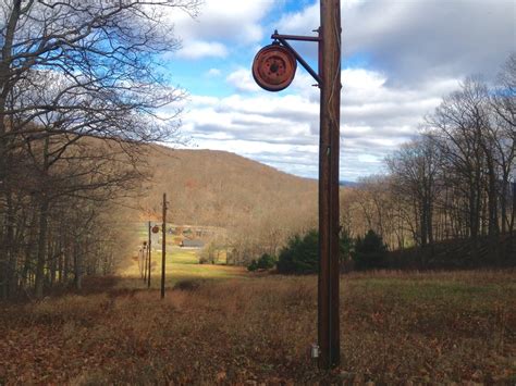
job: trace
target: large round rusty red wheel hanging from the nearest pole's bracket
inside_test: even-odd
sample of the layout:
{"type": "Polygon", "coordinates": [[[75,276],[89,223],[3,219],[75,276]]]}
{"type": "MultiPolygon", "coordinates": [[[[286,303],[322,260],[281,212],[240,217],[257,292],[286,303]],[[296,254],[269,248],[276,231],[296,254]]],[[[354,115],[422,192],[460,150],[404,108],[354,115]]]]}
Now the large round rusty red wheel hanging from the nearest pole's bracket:
{"type": "Polygon", "coordinates": [[[268,91],[281,91],[288,87],[296,74],[294,54],[278,43],[263,47],[253,62],[253,77],[258,86],[268,91]]]}

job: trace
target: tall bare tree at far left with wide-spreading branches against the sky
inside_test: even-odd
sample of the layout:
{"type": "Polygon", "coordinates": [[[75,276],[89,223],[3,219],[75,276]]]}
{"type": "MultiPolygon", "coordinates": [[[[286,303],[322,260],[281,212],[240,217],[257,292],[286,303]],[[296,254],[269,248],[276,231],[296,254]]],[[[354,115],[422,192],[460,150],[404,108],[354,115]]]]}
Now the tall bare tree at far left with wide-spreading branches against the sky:
{"type": "Polygon", "coordinates": [[[183,91],[169,87],[156,69],[163,52],[179,47],[168,10],[194,14],[197,7],[197,0],[0,3],[0,237],[8,246],[0,252],[1,294],[19,271],[17,196],[17,202],[37,203],[38,220],[30,222],[36,253],[25,254],[28,260],[36,254],[41,297],[54,247],[48,228],[53,202],[112,198],[131,177],[110,166],[112,155],[81,153],[85,140],[118,144],[113,153],[135,164],[140,149],[135,145],[175,133],[177,121],[160,121],[155,111],[183,91]],[[23,170],[28,180],[20,178],[23,170]]]}

